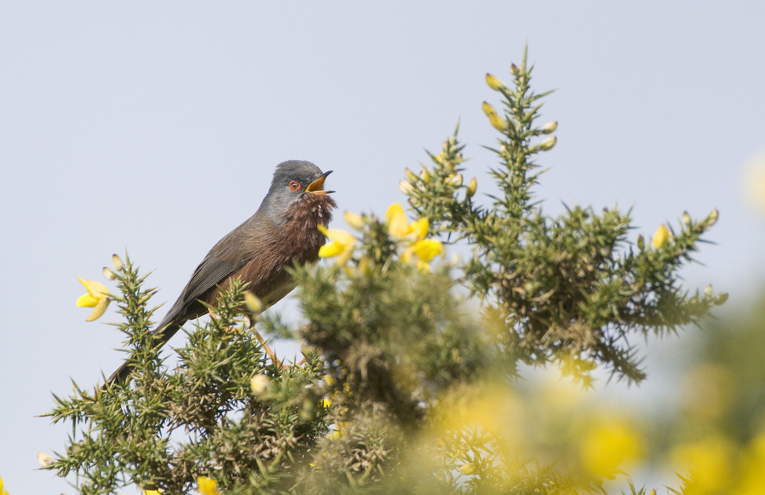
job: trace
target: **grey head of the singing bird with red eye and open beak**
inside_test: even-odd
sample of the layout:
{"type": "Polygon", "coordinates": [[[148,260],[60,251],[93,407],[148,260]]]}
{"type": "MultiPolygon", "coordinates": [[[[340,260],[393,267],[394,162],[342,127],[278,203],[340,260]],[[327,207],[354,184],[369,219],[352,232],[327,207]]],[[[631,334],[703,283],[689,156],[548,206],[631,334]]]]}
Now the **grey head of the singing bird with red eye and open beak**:
{"type": "Polygon", "coordinates": [[[261,205],[261,210],[274,221],[283,223],[293,217],[313,215],[320,223],[329,221],[329,212],[337,207],[328,196],[334,191],[324,190],[324,179],[332,171],[322,172],[310,161],[289,160],[276,166],[269,194],[261,205]]]}

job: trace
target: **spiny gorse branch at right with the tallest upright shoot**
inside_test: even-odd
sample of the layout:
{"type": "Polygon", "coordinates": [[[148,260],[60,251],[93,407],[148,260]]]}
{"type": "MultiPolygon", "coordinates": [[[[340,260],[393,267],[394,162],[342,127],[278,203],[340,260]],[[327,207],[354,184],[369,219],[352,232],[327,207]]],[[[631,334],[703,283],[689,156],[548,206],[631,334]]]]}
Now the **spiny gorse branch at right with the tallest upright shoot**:
{"type": "Polygon", "coordinates": [[[549,93],[532,92],[526,53],[512,73],[512,86],[498,88],[503,117],[484,103],[500,129],[496,148],[490,148],[500,167],[491,174],[503,194],[483,206],[475,203],[474,182],[457,186],[464,146],[456,132],[422,174],[407,174],[402,191],[435,232],[473,246],[474,256],[463,267],[467,286],[483,299],[487,318],[506,327],[495,335],[503,353],[525,363],[558,360],[580,372],[601,363],[620,378],[640,382],[645,373],[631,335],[676,331],[724,301],[711,291],[689,294],[677,274],[717,212],[700,221],[684,213],[679,230],[655,249],[627,240],[630,212],[617,207],[598,213],[576,206],[559,217],[545,216],[534,202],[541,174],[535,159],[555,138],[535,140],[554,131],[557,122],[535,125],[540,100],[549,93]]]}

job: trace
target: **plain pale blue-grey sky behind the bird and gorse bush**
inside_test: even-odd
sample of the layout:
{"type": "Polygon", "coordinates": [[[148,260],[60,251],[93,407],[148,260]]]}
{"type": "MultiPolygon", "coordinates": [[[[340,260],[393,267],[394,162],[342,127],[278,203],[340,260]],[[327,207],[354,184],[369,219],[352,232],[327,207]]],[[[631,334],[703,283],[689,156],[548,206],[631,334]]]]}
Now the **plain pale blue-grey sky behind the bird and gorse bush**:
{"type": "Polygon", "coordinates": [[[499,103],[483,77],[509,80],[527,41],[533,87],[556,90],[545,211],[617,203],[650,236],[717,207],[716,244],[682,274],[741,308],[765,280],[744,187],[765,154],[763,19],[763,2],[0,2],[5,490],[73,492],[34,471],[69,431],[35,415],[122,361],[113,309],[75,307],[77,275],[103,280],[127,249],[171,304],[280,161],[334,170],[340,212],[382,214],[457,121],[480,194],[496,164],[481,102],[499,103]]]}

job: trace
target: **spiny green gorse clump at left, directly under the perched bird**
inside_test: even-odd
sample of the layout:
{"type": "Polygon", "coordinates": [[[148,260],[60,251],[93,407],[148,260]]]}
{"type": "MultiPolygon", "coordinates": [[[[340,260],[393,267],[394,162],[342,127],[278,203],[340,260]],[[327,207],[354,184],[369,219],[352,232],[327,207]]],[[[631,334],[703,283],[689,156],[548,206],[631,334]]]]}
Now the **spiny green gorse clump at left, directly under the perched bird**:
{"type": "Polygon", "coordinates": [[[241,315],[245,288],[236,282],[216,318],[187,332],[171,373],[149,331],[155,308],[147,307],[145,276],[129,258],[114,275],[122,295],[112,297],[125,318],[118,327],[135,370],[129,383],[91,392],[74,384],[72,397],[55,397],[48,415],[73,431],[48,468],[77,474],[80,493],[116,493],[125,484],[188,493],[200,475],[235,487],[252,473],[264,487],[289,486],[287,473],[306,462],[308,439],[327,431],[320,399],[306,389],[321,376],[317,354],[307,352],[295,369],[267,362],[241,315]],[[250,379],[260,373],[271,386],[255,396],[250,379]]]}

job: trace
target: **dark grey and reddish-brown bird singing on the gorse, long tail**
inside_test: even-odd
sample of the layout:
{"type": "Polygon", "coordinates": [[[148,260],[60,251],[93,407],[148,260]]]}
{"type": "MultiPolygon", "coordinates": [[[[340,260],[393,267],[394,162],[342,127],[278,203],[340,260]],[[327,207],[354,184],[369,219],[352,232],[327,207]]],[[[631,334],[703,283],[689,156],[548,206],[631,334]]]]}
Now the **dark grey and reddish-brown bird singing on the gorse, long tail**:
{"type": "MultiPolygon", "coordinates": [[[[289,160],[276,166],[269,193],[252,217],[210,249],[194,270],[175,304],[154,332],[163,346],[186,321],[207,313],[230,279],[249,282],[247,290],[265,305],[274,304],[295,288],[285,267],[315,262],[326,238],[318,230],[332,219],[337,207],[324,191],[322,172],[310,161],[289,160]]],[[[109,376],[124,383],[131,371],[125,361],[109,376]]]]}

